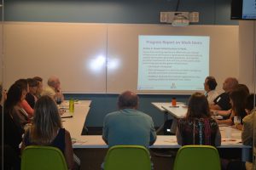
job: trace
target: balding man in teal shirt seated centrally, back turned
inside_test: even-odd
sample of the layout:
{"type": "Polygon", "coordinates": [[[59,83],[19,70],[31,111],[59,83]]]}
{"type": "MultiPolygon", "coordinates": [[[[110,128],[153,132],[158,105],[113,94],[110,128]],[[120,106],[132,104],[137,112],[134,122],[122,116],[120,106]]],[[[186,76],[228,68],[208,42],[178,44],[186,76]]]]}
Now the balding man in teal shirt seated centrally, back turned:
{"type": "Polygon", "coordinates": [[[136,144],[148,147],[154,144],[156,133],[151,116],[137,111],[138,96],[131,91],[119,95],[119,111],[104,118],[102,139],[108,147],[119,144],[136,144]]]}

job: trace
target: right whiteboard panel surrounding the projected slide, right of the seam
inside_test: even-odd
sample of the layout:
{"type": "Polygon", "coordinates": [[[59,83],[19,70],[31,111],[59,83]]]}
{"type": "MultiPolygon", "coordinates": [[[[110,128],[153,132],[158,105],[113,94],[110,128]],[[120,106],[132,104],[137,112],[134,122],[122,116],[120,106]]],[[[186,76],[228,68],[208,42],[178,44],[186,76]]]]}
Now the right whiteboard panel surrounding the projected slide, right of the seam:
{"type": "Polygon", "coordinates": [[[238,76],[238,26],[111,25],[108,26],[108,59],[117,60],[120,66],[116,70],[108,69],[108,93],[132,89],[139,94],[189,94],[186,91],[137,90],[140,35],[210,37],[209,73],[217,78],[218,90],[221,91],[226,77],[238,76]]]}

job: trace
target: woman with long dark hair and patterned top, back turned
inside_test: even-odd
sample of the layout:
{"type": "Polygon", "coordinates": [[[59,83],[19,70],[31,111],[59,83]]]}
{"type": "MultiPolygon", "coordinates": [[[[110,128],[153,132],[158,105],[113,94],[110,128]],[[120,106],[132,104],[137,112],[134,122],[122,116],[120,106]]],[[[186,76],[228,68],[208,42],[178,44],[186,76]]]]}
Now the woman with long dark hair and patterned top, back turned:
{"type": "Polygon", "coordinates": [[[177,122],[177,143],[207,144],[218,146],[221,135],[218,123],[212,119],[208,101],[201,93],[192,94],[189,99],[187,116],[177,122]]]}

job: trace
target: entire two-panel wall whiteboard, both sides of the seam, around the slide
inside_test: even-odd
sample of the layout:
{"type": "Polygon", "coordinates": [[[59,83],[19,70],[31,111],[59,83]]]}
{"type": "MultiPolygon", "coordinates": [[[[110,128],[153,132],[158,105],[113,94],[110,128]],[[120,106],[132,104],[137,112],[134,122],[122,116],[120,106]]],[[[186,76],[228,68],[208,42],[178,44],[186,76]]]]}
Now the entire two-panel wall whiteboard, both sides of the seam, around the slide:
{"type": "Polygon", "coordinates": [[[40,76],[45,83],[55,75],[64,93],[185,93],[137,90],[140,35],[210,37],[209,72],[217,78],[218,90],[225,77],[238,77],[238,26],[9,22],[3,31],[7,88],[21,77],[40,76]]]}

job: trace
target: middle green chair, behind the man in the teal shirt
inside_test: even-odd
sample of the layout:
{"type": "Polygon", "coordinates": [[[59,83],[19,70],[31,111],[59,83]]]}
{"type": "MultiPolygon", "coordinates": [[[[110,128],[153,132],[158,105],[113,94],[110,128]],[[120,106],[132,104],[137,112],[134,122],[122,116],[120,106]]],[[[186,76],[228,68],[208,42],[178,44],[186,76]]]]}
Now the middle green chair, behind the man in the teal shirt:
{"type": "Polygon", "coordinates": [[[116,145],[108,150],[104,170],[151,170],[149,151],[139,145],[116,145]]]}

